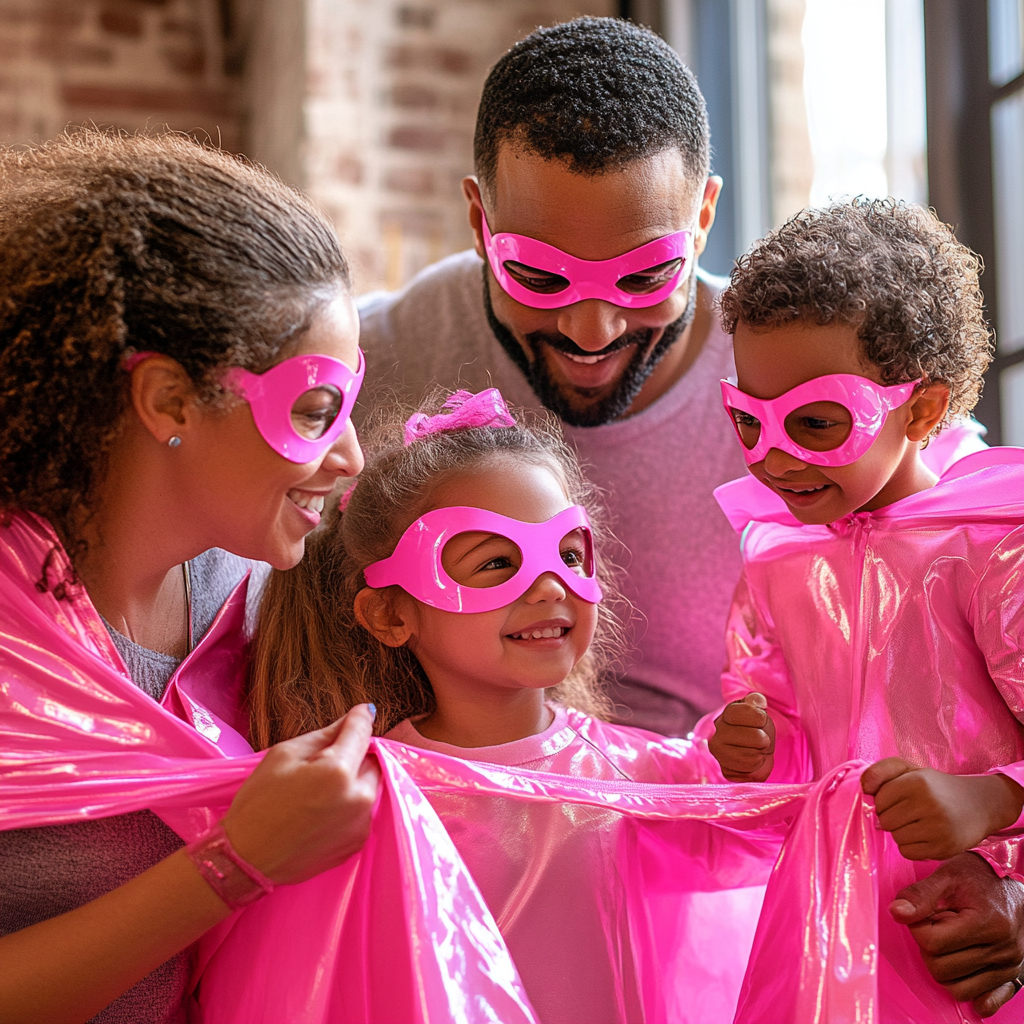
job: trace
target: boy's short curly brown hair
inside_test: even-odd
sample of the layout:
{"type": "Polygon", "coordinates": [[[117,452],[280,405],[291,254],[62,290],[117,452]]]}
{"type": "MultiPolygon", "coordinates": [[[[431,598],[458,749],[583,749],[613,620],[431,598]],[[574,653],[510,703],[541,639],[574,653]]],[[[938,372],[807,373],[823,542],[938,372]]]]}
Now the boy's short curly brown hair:
{"type": "Polygon", "coordinates": [[[978,402],[992,336],[981,260],[929,210],[855,199],[798,213],[740,256],[719,297],[722,324],[856,327],[885,384],[949,387],[947,420],[978,402]]]}

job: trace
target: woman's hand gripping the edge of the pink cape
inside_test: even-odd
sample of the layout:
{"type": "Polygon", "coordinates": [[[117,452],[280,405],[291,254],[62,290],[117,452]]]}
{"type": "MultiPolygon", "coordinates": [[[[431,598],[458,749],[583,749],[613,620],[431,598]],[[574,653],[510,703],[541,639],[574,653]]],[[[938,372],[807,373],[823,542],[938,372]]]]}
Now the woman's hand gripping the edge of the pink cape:
{"type": "Polygon", "coordinates": [[[366,760],[373,723],[358,705],[326,729],[271,746],[224,818],[239,855],[286,885],[355,853],[380,784],[376,762],[366,760]]]}

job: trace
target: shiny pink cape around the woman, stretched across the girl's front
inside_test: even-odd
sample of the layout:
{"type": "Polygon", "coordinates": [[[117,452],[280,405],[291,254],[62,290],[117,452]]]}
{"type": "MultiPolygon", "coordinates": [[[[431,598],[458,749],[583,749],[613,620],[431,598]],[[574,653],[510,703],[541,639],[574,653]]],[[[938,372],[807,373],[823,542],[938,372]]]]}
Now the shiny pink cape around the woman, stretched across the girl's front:
{"type": "MultiPolygon", "coordinates": [[[[239,595],[161,706],[126,678],[81,588],[67,586],[66,599],[57,600],[52,588],[36,587],[48,553],[51,582],[68,579],[67,557],[41,520],[13,516],[0,531],[0,826],[152,808],[193,839],[220,817],[260,760],[243,750],[244,723],[231,707],[243,656],[239,595]]],[[[467,820],[481,820],[472,809],[483,805],[493,822],[502,806],[561,808],[567,841],[579,841],[585,811],[623,822],[601,861],[602,884],[595,887],[597,876],[581,863],[572,894],[626,911],[618,920],[629,941],[609,957],[620,965],[610,980],[613,1019],[699,1019],[690,1016],[700,993],[687,988],[673,899],[753,885],[770,870],[735,1020],[879,1020],[876,864],[888,839],[860,793],[859,766],[841,766],[813,784],[652,785],[512,771],[385,740],[375,740],[372,753],[384,782],[366,847],[309,882],[281,887],[208,934],[200,1019],[541,1020],[428,799],[444,795],[465,801],[467,820]]],[[[498,836],[500,829],[476,842],[498,836]]],[[[532,865],[510,884],[532,885],[544,870],[532,865]]],[[[609,933],[609,941],[622,938],[609,933]]],[[[715,943],[714,922],[703,938],[715,943]]],[[[586,963],[577,969],[586,971],[586,963]]],[[[550,984],[558,983],[553,971],[550,984]]],[[[609,985],[606,977],[594,983],[609,985]]],[[[939,995],[929,1020],[959,1020],[939,995]]],[[[586,1010],[577,1019],[594,1022],[586,1010]]]]}

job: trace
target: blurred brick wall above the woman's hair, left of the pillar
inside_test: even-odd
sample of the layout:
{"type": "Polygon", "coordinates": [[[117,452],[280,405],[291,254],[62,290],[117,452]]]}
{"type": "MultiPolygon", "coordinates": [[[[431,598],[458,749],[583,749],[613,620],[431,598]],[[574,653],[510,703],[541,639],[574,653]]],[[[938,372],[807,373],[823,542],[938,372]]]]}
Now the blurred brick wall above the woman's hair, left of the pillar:
{"type": "Polygon", "coordinates": [[[238,150],[224,44],[217,0],[0,0],[0,142],[166,124],[238,150]]]}

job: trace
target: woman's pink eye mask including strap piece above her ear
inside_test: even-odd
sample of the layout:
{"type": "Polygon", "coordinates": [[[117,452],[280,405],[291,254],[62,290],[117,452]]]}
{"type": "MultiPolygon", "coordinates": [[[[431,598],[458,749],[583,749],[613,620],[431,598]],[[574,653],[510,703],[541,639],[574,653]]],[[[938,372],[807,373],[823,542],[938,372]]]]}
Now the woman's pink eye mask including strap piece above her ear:
{"type": "MultiPolygon", "coordinates": [[[[134,352],[121,364],[131,373],[158,352],[134,352]]],[[[289,462],[318,459],[344,433],[367,362],[354,372],[332,355],[293,355],[262,374],[231,367],[221,383],[252,409],[260,436],[289,462]]]]}

